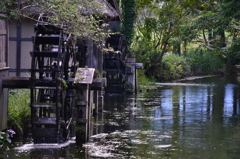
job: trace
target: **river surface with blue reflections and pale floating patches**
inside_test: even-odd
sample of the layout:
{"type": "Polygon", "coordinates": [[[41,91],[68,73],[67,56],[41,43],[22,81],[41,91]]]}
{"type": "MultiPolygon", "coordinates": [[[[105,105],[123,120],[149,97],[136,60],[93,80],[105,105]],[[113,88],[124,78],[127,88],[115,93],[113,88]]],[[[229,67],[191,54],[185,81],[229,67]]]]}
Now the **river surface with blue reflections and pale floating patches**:
{"type": "Polygon", "coordinates": [[[196,81],[202,86],[161,86],[137,98],[107,96],[84,148],[71,143],[55,150],[10,152],[20,158],[37,158],[40,152],[52,158],[237,159],[240,89],[234,80],[211,78],[196,81]]]}

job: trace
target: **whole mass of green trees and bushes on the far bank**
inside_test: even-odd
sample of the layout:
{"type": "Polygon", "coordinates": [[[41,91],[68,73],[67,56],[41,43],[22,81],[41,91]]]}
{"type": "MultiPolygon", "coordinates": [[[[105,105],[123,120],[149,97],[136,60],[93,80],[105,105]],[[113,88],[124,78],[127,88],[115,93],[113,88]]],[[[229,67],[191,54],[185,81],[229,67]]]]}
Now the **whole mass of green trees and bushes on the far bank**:
{"type": "Polygon", "coordinates": [[[171,81],[224,74],[240,62],[240,2],[136,0],[132,52],[144,75],[171,81]]]}

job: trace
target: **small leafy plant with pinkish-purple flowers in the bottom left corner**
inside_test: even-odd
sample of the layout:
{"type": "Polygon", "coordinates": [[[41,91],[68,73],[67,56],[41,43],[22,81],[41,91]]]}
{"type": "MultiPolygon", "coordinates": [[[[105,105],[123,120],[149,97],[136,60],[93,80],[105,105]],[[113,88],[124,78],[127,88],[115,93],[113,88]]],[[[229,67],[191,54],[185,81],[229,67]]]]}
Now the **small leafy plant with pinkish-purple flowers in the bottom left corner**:
{"type": "Polygon", "coordinates": [[[8,149],[9,144],[11,143],[11,137],[16,134],[12,129],[7,130],[6,132],[0,131],[0,152],[8,149]]]}

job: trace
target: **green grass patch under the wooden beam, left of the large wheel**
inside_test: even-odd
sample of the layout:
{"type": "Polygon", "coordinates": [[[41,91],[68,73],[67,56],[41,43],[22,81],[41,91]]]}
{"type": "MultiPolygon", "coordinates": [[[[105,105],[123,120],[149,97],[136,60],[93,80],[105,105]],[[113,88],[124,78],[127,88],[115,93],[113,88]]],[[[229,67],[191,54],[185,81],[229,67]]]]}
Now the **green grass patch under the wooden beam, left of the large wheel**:
{"type": "Polygon", "coordinates": [[[8,101],[8,126],[18,132],[24,133],[24,126],[27,126],[31,117],[30,91],[28,89],[11,89],[8,101]]]}

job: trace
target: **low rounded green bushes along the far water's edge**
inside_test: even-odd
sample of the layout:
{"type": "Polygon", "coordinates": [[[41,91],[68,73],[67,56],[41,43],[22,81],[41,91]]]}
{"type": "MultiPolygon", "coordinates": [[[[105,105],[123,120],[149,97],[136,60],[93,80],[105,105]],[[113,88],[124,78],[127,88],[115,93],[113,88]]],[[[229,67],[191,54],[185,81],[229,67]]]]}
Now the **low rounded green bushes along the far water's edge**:
{"type": "Polygon", "coordinates": [[[224,74],[224,61],[225,59],[214,51],[192,48],[185,56],[165,55],[161,63],[151,59],[151,62],[145,65],[145,75],[158,82],[165,82],[190,75],[224,74]]]}

